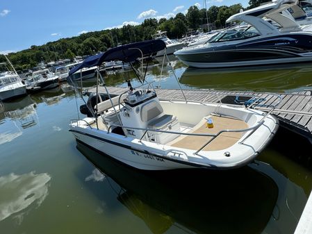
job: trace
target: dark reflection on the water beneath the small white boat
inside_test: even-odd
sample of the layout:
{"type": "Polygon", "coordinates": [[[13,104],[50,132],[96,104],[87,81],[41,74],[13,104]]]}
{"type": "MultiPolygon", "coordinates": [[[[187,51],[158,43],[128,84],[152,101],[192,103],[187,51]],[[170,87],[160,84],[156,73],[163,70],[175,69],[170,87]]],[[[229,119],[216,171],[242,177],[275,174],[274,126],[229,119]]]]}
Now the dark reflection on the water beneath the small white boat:
{"type": "Polygon", "coordinates": [[[120,185],[117,199],[152,233],[176,227],[195,233],[261,233],[278,198],[272,178],[250,167],[219,172],[142,172],[93,151],[79,140],[77,148],[120,185]]]}

